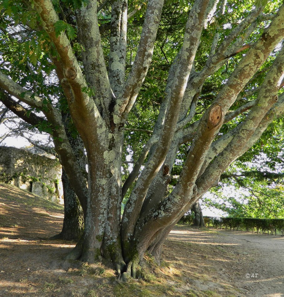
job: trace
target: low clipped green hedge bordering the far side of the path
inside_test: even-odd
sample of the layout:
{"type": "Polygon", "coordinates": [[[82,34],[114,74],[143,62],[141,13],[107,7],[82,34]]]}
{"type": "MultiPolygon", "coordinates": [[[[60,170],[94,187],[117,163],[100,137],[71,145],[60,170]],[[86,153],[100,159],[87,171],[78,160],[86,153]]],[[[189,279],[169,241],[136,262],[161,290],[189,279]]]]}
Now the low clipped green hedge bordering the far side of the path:
{"type": "MultiPolygon", "coordinates": [[[[235,217],[204,217],[205,225],[219,229],[235,229],[245,230],[246,232],[262,231],[262,234],[267,232],[280,233],[284,236],[284,219],[255,219],[255,218],[235,218],[235,217]]],[[[192,217],[184,216],[179,221],[180,224],[191,224],[192,217]]]]}

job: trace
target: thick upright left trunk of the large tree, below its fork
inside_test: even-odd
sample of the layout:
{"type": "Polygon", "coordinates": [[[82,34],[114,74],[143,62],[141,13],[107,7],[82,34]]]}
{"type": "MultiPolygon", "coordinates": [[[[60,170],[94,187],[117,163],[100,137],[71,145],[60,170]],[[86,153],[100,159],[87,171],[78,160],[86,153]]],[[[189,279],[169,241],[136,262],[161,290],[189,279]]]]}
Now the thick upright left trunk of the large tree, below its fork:
{"type": "MultiPolygon", "coordinates": [[[[67,259],[94,262],[103,256],[120,274],[125,269],[120,242],[121,149],[123,133],[109,130],[100,135],[101,145],[88,151],[89,197],[81,240],[67,259]],[[106,135],[106,136],[105,136],[106,135]]],[[[92,139],[87,139],[88,141],[92,139]]]]}

